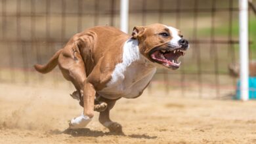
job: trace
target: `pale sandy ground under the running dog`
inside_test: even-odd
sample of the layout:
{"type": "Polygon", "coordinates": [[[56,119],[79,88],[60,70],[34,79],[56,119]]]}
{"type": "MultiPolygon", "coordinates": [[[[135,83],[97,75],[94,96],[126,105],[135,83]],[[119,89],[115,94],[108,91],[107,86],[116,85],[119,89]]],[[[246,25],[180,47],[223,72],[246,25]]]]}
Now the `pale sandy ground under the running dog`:
{"type": "Polygon", "coordinates": [[[256,143],[256,101],[182,99],[145,92],[120,99],[112,119],[125,135],[98,122],[69,131],[82,109],[72,88],[0,84],[0,143],[256,143]]]}

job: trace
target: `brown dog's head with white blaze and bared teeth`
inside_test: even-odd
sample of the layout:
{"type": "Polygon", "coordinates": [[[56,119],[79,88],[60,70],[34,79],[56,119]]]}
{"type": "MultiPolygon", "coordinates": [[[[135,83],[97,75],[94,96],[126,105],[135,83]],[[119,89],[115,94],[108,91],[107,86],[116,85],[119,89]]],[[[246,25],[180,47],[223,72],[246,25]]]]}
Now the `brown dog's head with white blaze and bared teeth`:
{"type": "Polygon", "coordinates": [[[178,58],[184,56],[189,47],[179,29],[163,24],[136,26],[132,38],[139,41],[140,53],[148,60],[171,69],[179,68],[178,58]]]}

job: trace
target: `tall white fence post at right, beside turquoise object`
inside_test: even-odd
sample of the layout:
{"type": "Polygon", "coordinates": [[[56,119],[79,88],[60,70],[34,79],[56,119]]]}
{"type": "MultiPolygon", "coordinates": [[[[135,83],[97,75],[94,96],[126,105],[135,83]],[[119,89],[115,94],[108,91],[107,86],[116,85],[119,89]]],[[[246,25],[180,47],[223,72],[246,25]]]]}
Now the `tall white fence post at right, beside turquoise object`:
{"type": "Polygon", "coordinates": [[[239,0],[240,98],[249,99],[248,1],[239,0]]]}

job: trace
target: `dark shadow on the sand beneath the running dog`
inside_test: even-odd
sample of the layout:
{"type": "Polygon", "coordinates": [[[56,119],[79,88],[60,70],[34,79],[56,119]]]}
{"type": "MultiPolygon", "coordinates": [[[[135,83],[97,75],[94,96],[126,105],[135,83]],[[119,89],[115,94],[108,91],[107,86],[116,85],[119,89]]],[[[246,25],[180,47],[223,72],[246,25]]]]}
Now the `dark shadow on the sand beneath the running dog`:
{"type": "Polygon", "coordinates": [[[101,137],[104,135],[119,135],[123,137],[131,137],[131,138],[137,138],[137,139],[156,139],[157,136],[149,136],[146,134],[132,134],[132,135],[125,135],[123,132],[121,133],[114,133],[114,132],[102,132],[102,131],[97,131],[97,130],[90,130],[89,128],[79,128],[79,129],[66,129],[64,131],[60,130],[51,130],[48,132],[49,134],[68,134],[71,135],[72,137],[101,137]]]}

